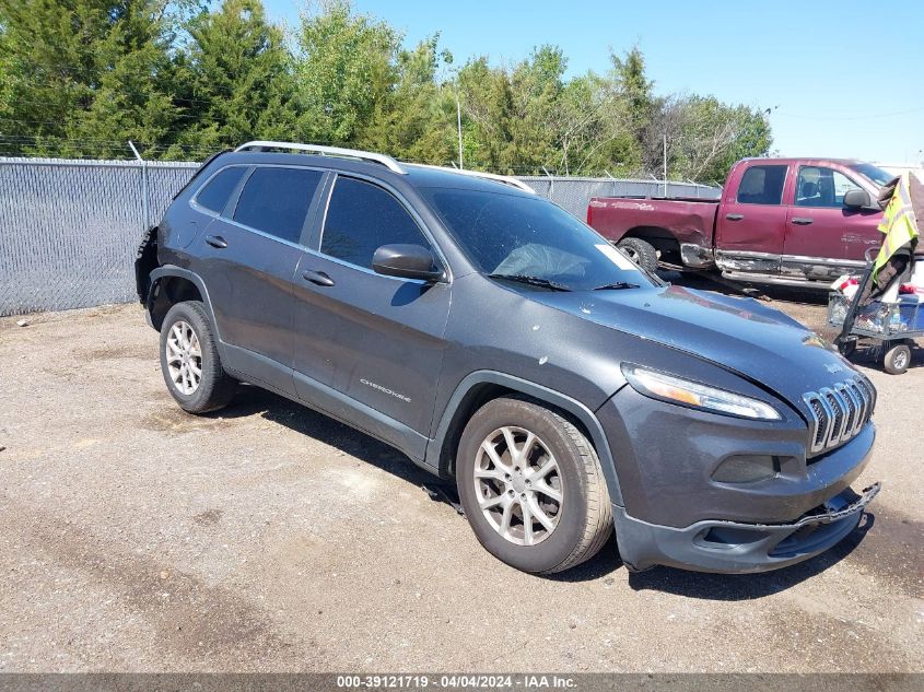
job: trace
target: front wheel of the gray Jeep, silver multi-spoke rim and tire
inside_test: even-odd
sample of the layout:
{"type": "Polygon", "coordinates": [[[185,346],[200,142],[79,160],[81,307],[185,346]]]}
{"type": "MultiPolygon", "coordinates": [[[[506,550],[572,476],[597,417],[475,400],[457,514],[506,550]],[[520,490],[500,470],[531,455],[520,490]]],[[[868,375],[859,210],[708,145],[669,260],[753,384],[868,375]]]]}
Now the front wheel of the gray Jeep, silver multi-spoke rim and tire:
{"type": "Polygon", "coordinates": [[[596,451],[558,413],[501,398],[471,418],[456,482],[478,540],[524,572],[551,574],[588,560],[612,531],[596,451]]]}

